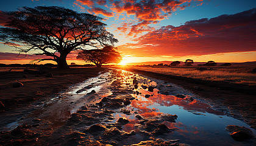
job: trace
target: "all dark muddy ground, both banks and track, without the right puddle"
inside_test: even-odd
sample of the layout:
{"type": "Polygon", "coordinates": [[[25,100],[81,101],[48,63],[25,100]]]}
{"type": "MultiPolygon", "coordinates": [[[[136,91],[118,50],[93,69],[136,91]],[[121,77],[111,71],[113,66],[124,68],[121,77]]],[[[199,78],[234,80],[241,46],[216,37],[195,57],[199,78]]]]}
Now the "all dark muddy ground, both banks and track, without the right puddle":
{"type": "MultiPolygon", "coordinates": [[[[131,103],[140,101],[137,96],[132,95],[141,94],[135,91],[138,88],[138,80],[143,82],[143,78],[131,77],[130,73],[126,73],[125,78],[122,76],[124,74],[122,71],[114,70],[111,74],[107,71],[108,69],[96,68],[46,71],[53,74],[53,77],[45,77],[46,73],[35,75],[16,72],[12,77],[7,73],[1,74],[5,80],[1,81],[0,90],[2,101],[0,116],[4,117],[0,122],[0,145],[187,145],[177,139],[161,138],[165,133],[172,133],[175,130],[166,125],[175,123],[179,114],[163,114],[155,112],[153,108],[143,108],[150,110],[149,113],[157,113],[146,116],[142,109],[127,108],[131,103]],[[99,72],[101,73],[99,77],[88,79],[88,77],[96,77],[99,72]],[[23,75],[27,78],[23,78],[23,75]],[[23,82],[24,86],[13,88],[13,78],[23,82]],[[88,83],[84,82],[83,88],[76,89],[78,85],[74,83],[85,79],[88,79],[88,83]],[[72,92],[68,91],[70,85],[74,88],[72,92]],[[96,88],[97,86],[101,86],[101,89],[96,88]],[[110,91],[111,94],[105,91],[110,91]],[[132,115],[136,120],[126,119],[126,116],[117,117],[116,115],[119,114],[132,115]],[[20,116],[18,122],[15,122],[16,115],[20,116]],[[9,122],[5,120],[14,122],[8,127],[2,126],[9,122]],[[134,121],[137,122],[133,123],[134,121]],[[132,130],[124,131],[124,128],[130,126],[133,127],[132,130]],[[134,141],[138,136],[143,138],[134,141]]],[[[227,114],[243,119],[255,128],[255,106],[253,106],[255,96],[251,95],[254,90],[246,94],[244,91],[236,91],[237,89],[236,92],[233,89],[221,89],[221,86],[230,88],[222,84],[201,83],[190,78],[170,77],[152,72],[133,72],[190,89],[204,97],[202,100],[212,104],[213,108],[219,111],[225,113],[226,108],[222,106],[229,107],[231,112],[227,114]]],[[[140,85],[139,88],[144,89],[144,86],[140,85]]],[[[145,89],[151,92],[149,86],[145,89]]],[[[152,98],[152,95],[153,92],[144,97],[152,98]]],[[[196,101],[181,96],[177,96],[177,99],[188,104],[193,100],[196,101]]],[[[256,144],[255,139],[252,143],[245,144],[256,144]]]]}

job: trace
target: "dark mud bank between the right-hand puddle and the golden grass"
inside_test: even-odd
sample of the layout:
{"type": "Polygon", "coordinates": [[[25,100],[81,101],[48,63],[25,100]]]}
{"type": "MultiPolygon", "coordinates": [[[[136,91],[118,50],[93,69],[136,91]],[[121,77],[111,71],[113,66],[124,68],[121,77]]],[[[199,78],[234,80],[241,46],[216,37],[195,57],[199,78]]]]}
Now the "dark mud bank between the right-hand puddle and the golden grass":
{"type": "Polygon", "coordinates": [[[148,77],[165,80],[199,95],[201,100],[212,105],[218,111],[240,119],[252,128],[256,128],[256,86],[238,85],[226,82],[211,82],[174,75],[158,74],[155,72],[140,71],[124,68],[127,71],[137,72],[148,77]]]}

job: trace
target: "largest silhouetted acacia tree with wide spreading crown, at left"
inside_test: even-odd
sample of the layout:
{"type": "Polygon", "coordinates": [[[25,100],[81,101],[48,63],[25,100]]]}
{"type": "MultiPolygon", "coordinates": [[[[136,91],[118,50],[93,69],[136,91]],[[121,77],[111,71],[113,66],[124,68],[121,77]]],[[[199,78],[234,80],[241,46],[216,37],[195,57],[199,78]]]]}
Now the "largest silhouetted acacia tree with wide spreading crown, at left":
{"type": "Polygon", "coordinates": [[[106,46],[117,43],[112,33],[105,30],[102,18],[88,13],[77,13],[64,7],[22,7],[6,12],[10,21],[0,28],[0,40],[15,45],[20,52],[39,50],[35,55],[47,55],[58,68],[68,68],[66,56],[85,46],[106,46]]]}

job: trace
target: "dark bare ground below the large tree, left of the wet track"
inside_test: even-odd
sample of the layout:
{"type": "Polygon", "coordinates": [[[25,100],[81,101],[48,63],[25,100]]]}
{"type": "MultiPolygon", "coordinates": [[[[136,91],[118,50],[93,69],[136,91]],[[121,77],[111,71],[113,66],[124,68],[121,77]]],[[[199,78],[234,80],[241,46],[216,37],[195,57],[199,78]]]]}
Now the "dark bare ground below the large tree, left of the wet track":
{"type": "Polygon", "coordinates": [[[104,71],[99,68],[71,69],[30,69],[37,72],[0,72],[0,111],[29,104],[51,94],[56,94],[74,83],[83,82],[89,77],[104,71]],[[46,77],[51,73],[53,77],[46,77]],[[23,87],[13,88],[13,83],[21,82],[23,87]]]}

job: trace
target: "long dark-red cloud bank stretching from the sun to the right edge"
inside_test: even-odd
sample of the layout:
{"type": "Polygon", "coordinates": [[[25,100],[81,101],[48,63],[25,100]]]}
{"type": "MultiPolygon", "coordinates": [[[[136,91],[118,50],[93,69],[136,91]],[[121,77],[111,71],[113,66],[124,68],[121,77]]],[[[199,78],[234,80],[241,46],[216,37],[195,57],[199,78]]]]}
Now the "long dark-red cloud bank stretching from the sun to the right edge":
{"type": "Polygon", "coordinates": [[[137,57],[207,55],[255,51],[256,9],[165,26],[135,39],[137,44],[119,46],[137,57]]]}

